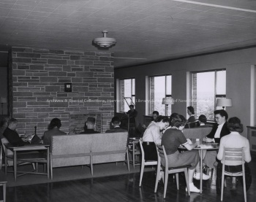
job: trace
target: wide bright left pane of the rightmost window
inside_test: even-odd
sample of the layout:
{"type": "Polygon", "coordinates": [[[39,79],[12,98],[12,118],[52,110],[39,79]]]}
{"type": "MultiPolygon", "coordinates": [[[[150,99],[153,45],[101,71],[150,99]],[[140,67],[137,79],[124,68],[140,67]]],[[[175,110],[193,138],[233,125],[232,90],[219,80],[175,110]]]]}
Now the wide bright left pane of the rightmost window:
{"type": "Polygon", "coordinates": [[[214,77],[214,71],[192,74],[192,106],[196,118],[204,114],[208,120],[214,120],[214,77]]]}

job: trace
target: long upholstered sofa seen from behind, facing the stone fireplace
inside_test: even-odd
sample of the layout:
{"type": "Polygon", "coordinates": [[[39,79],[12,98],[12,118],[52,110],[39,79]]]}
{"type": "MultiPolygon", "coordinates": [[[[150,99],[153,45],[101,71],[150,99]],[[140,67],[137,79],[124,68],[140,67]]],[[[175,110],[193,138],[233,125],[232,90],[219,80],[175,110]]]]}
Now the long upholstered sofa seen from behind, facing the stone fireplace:
{"type": "Polygon", "coordinates": [[[50,145],[50,177],[53,168],[93,165],[124,161],[129,171],[128,132],[52,136],[50,145]]]}

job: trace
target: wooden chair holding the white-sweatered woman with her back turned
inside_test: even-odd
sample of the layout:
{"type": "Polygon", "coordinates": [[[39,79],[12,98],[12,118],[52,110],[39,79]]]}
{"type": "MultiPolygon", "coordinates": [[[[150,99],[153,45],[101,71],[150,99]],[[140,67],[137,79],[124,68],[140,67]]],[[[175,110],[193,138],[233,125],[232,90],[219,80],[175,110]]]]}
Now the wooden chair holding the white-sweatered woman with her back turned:
{"type": "Polygon", "coordinates": [[[244,201],[246,202],[246,182],[245,182],[245,171],[244,171],[244,148],[226,148],[224,147],[223,152],[223,160],[222,160],[222,191],[221,191],[221,199],[223,200],[223,190],[224,190],[224,177],[227,176],[243,176],[243,184],[244,184],[244,201]],[[242,171],[238,173],[229,173],[225,171],[225,163],[226,160],[236,161],[242,165],[242,171]]]}

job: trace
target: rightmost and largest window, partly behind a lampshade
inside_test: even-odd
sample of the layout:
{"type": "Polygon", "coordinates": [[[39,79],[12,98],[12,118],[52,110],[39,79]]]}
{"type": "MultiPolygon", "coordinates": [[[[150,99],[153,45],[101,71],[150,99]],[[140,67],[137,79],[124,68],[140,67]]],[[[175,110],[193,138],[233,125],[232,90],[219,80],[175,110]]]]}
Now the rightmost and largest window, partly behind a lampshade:
{"type": "Polygon", "coordinates": [[[217,98],[226,97],[226,71],[207,71],[192,73],[192,106],[195,118],[200,114],[208,120],[214,120],[214,110],[222,109],[216,106],[217,98]]]}

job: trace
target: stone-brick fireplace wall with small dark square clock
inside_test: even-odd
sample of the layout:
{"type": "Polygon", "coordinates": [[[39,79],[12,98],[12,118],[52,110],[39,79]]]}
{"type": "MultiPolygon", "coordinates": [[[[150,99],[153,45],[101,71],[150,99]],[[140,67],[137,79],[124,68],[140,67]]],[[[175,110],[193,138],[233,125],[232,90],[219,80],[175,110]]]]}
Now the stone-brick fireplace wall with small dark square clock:
{"type": "Polygon", "coordinates": [[[61,119],[69,131],[70,114],[101,114],[102,131],[114,115],[112,53],[72,52],[13,47],[11,51],[12,117],[18,131],[42,134],[50,120],[61,119]],[[72,92],[64,92],[72,83],[72,92]]]}

